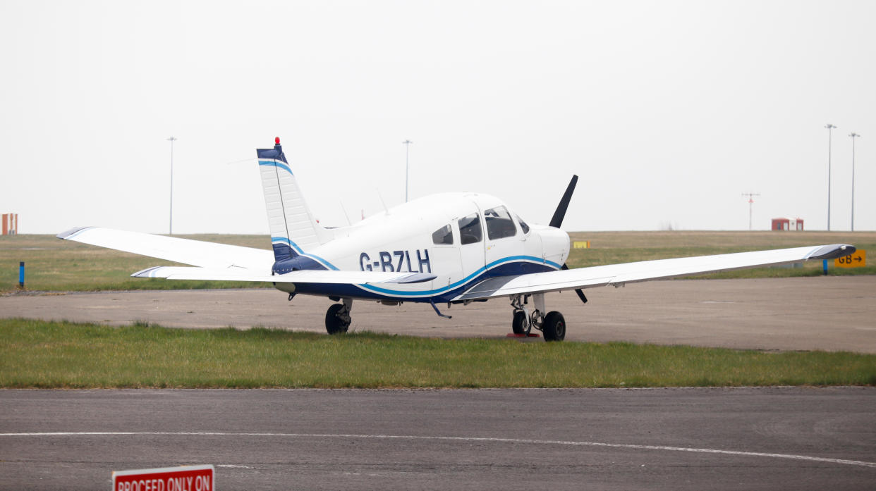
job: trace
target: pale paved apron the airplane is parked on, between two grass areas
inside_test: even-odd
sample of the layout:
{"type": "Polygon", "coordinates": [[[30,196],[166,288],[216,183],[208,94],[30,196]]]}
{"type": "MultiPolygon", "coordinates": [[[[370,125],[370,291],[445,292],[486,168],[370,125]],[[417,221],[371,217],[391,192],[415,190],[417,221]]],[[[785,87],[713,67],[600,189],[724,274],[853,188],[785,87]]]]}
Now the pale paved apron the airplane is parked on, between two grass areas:
{"type": "MultiPolygon", "coordinates": [[[[567,340],[686,344],[767,350],[876,353],[876,276],[675,280],[548,294],[567,340]]],[[[270,326],[325,332],[328,298],[275,290],[128,291],[0,297],[0,316],[173,327],[270,326]]],[[[353,303],[351,330],[436,337],[505,337],[504,299],[454,305],[453,319],[423,304],[353,303]]],[[[540,342],[540,341],[539,341],[540,342]]]]}

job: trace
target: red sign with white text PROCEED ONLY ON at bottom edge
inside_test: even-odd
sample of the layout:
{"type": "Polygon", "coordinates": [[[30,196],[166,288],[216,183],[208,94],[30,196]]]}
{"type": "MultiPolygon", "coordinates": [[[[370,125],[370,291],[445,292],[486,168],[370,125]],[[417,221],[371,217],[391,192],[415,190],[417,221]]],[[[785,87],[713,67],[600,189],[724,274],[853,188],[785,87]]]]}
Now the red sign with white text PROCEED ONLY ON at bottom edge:
{"type": "Polygon", "coordinates": [[[213,466],[113,471],[113,491],[215,491],[213,466]]]}

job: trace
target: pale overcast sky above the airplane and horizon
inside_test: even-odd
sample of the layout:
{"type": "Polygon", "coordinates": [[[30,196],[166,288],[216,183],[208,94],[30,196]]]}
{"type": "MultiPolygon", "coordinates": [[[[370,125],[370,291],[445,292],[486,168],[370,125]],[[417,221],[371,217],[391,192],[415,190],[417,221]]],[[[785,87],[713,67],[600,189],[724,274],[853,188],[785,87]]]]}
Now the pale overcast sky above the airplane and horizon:
{"type": "Polygon", "coordinates": [[[478,191],[568,230],[876,229],[876,2],[0,0],[0,210],[267,233],[281,137],[323,224],[478,191]],[[247,159],[243,162],[241,160],[247,159]]]}

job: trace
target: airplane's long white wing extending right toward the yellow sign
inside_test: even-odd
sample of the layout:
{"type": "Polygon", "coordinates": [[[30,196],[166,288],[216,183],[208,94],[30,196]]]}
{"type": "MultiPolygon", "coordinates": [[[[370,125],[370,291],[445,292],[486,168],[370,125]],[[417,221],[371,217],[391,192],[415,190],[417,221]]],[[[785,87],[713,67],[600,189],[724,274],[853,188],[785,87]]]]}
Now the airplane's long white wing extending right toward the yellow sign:
{"type": "Polygon", "coordinates": [[[454,300],[493,298],[521,293],[574,290],[613,284],[686,277],[701,273],[741,270],[757,266],[800,263],[812,259],[832,259],[855,251],[849,244],[809,246],[793,249],[758,250],[717,256],[680,257],[639,263],[610,264],[576,270],[556,270],[528,275],[493,277],[466,290],[454,300]]]}

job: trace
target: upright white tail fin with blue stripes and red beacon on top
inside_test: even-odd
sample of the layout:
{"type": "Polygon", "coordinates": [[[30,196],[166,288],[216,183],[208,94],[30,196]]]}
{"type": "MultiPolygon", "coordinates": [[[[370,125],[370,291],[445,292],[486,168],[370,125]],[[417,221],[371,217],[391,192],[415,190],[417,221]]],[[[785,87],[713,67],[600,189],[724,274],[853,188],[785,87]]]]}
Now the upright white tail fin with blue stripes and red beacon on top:
{"type": "Polygon", "coordinates": [[[257,149],[258,169],[265,191],[265,207],[271,228],[271,243],[277,261],[303,254],[329,242],[329,231],[307,209],[292,169],[283,155],[279,137],[272,149],[257,149]]]}

